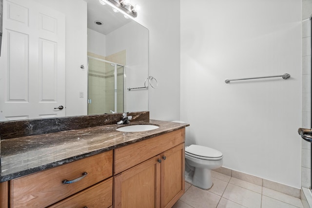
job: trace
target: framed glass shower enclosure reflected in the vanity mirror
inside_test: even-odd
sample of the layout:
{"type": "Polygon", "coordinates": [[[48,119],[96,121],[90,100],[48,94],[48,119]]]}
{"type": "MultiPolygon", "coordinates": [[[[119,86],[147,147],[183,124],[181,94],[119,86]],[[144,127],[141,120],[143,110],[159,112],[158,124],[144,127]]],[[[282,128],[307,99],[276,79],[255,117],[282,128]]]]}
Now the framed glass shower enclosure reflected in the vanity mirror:
{"type": "Polygon", "coordinates": [[[88,115],[125,111],[125,66],[88,57],[88,115]]]}

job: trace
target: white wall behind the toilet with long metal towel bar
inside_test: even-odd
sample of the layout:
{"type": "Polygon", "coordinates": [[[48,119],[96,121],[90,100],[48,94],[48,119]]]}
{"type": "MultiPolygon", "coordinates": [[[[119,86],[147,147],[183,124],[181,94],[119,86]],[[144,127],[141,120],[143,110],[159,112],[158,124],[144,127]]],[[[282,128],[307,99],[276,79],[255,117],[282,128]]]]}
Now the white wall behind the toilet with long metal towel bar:
{"type": "Polygon", "coordinates": [[[301,1],[181,0],[181,120],[224,167],[300,188],[301,1]]]}

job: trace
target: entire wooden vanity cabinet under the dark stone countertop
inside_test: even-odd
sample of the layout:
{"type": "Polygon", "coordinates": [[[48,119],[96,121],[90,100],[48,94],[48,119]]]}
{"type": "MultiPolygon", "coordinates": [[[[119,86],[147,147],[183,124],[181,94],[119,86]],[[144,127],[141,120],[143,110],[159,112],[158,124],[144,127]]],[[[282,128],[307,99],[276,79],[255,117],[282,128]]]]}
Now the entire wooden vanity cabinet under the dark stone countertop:
{"type": "Polygon", "coordinates": [[[0,183],[0,208],[171,208],[185,189],[184,141],[185,128],[0,183]]]}

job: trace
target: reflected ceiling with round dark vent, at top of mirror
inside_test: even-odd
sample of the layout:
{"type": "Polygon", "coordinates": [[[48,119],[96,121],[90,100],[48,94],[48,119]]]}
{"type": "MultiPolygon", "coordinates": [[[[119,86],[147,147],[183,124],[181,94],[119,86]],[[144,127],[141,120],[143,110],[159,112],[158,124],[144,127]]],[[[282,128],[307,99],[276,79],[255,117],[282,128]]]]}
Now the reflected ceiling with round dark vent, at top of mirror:
{"type": "Polygon", "coordinates": [[[124,18],[123,14],[115,13],[108,4],[102,5],[98,0],[85,0],[88,6],[88,28],[104,35],[116,30],[117,28],[129,23],[132,19],[124,18]],[[101,21],[98,25],[95,21],[101,21]]]}

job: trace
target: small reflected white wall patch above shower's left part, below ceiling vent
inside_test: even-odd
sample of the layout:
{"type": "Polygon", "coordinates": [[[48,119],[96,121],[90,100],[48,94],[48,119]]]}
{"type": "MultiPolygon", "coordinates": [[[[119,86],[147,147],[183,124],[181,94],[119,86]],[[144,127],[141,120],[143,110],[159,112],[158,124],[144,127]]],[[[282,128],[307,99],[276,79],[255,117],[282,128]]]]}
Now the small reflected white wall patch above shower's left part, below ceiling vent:
{"type": "Polygon", "coordinates": [[[88,52],[106,57],[106,36],[88,28],[88,52]]]}

